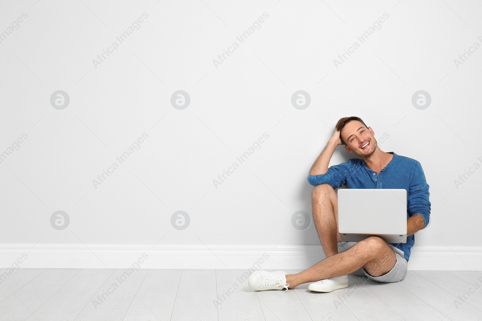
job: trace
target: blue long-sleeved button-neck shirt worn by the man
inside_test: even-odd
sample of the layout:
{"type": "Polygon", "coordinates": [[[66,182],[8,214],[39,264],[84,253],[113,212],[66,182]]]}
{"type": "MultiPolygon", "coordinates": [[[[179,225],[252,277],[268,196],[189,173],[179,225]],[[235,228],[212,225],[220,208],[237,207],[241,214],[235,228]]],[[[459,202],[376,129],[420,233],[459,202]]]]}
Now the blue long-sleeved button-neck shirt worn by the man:
{"type": "MultiPolygon", "coordinates": [[[[430,201],[428,200],[428,184],[422,166],[415,159],[400,156],[394,152],[392,160],[378,175],[368,168],[361,158],[351,158],[347,162],[328,168],[326,174],[308,175],[308,182],[313,185],[329,184],[334,189],[346,185],[347,188],[387,188],[405,189],[407,191],[407,219],[419,214],[425,221],[430,218],[430,201]]],[[[407,236],[407,243],[389,243],[410,257],[410,249],[414,246],[415,234],[407,236]]]]}

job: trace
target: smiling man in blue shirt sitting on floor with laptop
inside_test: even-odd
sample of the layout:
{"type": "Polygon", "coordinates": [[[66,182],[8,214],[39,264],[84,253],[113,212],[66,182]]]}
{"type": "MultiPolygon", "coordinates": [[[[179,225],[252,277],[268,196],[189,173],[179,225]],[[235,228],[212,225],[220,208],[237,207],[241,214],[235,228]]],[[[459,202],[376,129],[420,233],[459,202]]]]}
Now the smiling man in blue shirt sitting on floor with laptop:
{"type": "MultiPolygon", "coordinates": [[[[377,145],[375,132],[359,117],[341,118],[333,136],[316,159],[308,175],[315,186],[312,193],[313,221],[326,258],[296,274],[283,271],[255,271],[248,284],[253,290],[287,291],[299,284],[313,282],[308,290],[331,292],[348,287],[348,274],[367,276],[377,282],[399,282],[407,274],[414,233],[428,224],[430,202],[423,169],[415,159],[394,152],[385,153],[377,145]],[[328,168],[336,146],[345,145],[361,158],[328,168]],[[407,191],[407,243],[388,244],[378,236],[360,242],[342,242],[338,232],[338,202],[335,189],[386,188],[407,191]]],[[[366,200],[360,206],[370,206],[366,200]]],[[[389,210],[389,209],[387,209],[389,210]]]]}

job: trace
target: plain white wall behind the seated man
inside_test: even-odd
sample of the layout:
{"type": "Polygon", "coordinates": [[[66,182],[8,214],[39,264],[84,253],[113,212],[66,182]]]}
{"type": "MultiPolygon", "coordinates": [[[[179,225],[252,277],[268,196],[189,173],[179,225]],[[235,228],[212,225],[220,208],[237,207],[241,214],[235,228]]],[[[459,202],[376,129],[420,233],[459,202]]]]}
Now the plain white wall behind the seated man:
{"type": "MultiPolygon", "coordinates": [[[[360,116],[375,138],[389,135],[382,150],[425,171],[431,225],[415,245],[478,247],[480,264],[482,170],[454,183],[482,165],[482,49],[454,62],[482,45],[480,3],[33,0],[0,9],[0,32],[28,14],[0,43],[0,153],[28,135],[0,164],[3,248],[319,245],[313,224],[298,231],[291,218],[311,214],[308,170],[336,121],[360,116]],[[120,43],[143,13],[140,29],[120,43]],[[240,43],[263,13],[261,28],[240,43]],[[119,47],[95,67],[114,41],[119,47]],[[216,68],[235,41],[239,48],[216,68]],[[336,67],[355,41],[360,47],[336,67]],[[50,103],[56,90],[70,97],[63,110],[50,103]],[[190,96],[184,110],[170,102],[176,90],[190,96]],[[304,110],[291,103],[297,90],[311,98],[304,110]],[[431,96],[424,110],[412,104],[418,90],[431,96]],[[143,133],[141,148],[120,164],[116,156],[143,133]],[[264,133],[240,164],[236,157],[264,133]],[[95,188],[113,162],[119,168],[95,188]],[[215,188],[233,162],[240,167],[215,188]],[[70,218],[60,231],[51,225],[58,210],[70,218]],[[171,225],[178,210],[190,217],[182,231],[171,225]]],[[[330,165],[350,157],[338,147],[330,165]]],[[[22,253],[5,251],[2,267],[22,253]]],[[[453,258],[455,269],[473,263],[453,258]]]]}

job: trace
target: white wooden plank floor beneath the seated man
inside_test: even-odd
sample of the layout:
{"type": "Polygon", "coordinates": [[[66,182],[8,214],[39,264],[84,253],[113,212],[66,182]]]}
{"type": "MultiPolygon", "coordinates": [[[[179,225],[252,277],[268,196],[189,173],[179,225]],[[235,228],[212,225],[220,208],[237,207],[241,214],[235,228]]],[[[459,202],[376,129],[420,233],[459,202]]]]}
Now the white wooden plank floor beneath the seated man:
{"type": "Polygon", "coordinates": [[[0,321],[482,320],[479,271],[408,271],[397,283],[350,274],[348,288],[330,293],[308,284],[254,292],[246,270],[138,270],[120,280],[124,271],[15,271],[0,280],[0,321]]]}

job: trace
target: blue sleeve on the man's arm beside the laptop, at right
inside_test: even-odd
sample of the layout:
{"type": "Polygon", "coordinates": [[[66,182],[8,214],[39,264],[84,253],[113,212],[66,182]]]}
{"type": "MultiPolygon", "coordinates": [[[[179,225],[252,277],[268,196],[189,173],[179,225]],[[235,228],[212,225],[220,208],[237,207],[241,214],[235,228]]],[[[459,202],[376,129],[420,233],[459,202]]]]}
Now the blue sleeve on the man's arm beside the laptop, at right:
{"type": "Polygon", "coordinates": [[[423,217],[425,226],[430,219],[430,201],[428,200],[428,184],[422,165],[417,161],[410,175],[410,185],[408,189],[408,214],[412,217],[419,214],[423,217]]]}

